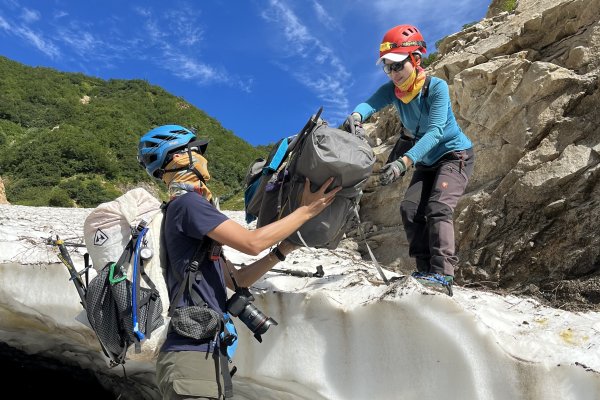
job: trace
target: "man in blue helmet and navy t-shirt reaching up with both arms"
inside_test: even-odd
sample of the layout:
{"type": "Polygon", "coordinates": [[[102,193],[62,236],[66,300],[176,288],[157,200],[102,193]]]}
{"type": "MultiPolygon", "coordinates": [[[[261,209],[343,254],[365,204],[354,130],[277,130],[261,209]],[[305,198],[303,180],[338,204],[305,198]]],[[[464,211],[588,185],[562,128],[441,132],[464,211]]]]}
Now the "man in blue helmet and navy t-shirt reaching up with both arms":
{"type": "MultiPolygon", "coordinates": [[[[248,230],[212,204],[207,186],[210,174],[203,156],[207,145],[208,141],[197,140],[195,133],[185,127],[163,125],[141,137],[138,161],[150,176],[164,182],[169,189],[171,200],[164,217],[162,238],[168,257],[165,279],[171,307],[197,306],[195,299],[200,298],[211,310],[223,315],[228,310],[233,313],[231,306],[228,307],[226,287],[246,288],[283,261],[296,248],[285,239],[329,206],[341,188],[326,192],[333,182],[329,179],[312,193],[307,180],[301,207],[272,224],[248,230]],[[257,255],[277,243],[265,257],[242,269],[235,268],[220,251],[222,245],[227,245],[257,255]],[[196,279],[182,289],[181,277],[194,260],[198,261],[201,275],[197,274],[196,279]]],[[[217,338],[195,339],[177,329],[169,329],[156,363],[157,383],[163,399],[232,396],[229,368],[223,362],[225,346],[217,338]]]]}

